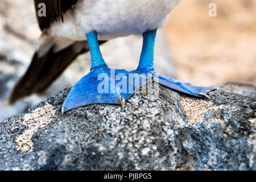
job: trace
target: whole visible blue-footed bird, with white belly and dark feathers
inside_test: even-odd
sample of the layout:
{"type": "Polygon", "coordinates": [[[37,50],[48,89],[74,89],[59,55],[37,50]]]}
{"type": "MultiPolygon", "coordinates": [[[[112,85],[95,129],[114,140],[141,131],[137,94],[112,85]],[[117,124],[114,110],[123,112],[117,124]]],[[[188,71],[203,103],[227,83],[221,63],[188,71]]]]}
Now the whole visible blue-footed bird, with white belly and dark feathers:
{"type": "Polygon", "coordinates": [[[62,106],[63,113],[89,104],[123,107],[150,77],[179,92],[208,97],[213,88],[177,81],[154,71],[156,31],[166,24],[168,15],[180,1],[34,0],[42,35],[30,67],[11,94],[10,103],[32,93],[42,93],[78,55],[87,51],[92,61],[90,72],[71,89],[62,106]],[[42,3],[46,7],[44,16],[38,14],[42,3]],[[138,68],[132,72],[110,69],[101,55],[100,44],[133,34],[143,35],[138,68]]]}

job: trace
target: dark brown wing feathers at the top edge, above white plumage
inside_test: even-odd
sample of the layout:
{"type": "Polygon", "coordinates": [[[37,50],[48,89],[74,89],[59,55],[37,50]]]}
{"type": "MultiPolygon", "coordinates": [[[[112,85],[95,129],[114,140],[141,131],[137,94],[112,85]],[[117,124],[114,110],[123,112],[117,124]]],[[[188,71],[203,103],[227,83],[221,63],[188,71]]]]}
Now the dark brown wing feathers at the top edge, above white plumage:
{"type": "Polygon", "coordinates": [[[73,5],[76,5],[77,1],[78,0],[34,0],[36,17],[38,18],[41,30],[43,31],[45,28],[48,28],[50,24],[55,22],[58,18],[64,21],[63,13],[66,13],[73,5]],[[46,16],[38,15],[38,11],[40,10],[38,5],[40,3],[46,5],[46,16]]]}

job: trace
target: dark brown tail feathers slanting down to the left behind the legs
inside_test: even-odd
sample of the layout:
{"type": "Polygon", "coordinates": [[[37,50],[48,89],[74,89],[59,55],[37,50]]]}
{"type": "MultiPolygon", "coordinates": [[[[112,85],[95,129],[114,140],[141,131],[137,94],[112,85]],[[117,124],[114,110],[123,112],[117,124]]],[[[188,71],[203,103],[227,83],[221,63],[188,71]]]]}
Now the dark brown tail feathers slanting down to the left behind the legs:
{"type": "Polygon", "coordinates": [[[54,51],[53,45],[43,56],[36,52],[27,72],[15,85],[9,103],[13,104],[16,100],[33,93],[44,92],[78,55],[87,51],[88,42],[83,41],[75,42],[59,52],[54,51]]]}

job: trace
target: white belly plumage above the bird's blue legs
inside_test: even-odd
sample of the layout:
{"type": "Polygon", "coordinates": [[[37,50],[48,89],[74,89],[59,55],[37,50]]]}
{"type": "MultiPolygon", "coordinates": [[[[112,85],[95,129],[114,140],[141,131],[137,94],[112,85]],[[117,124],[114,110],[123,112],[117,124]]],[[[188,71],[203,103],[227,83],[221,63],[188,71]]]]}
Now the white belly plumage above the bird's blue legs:
{"type": "Polygon", "coordinates": [[[97,31],[100,40],[142,34],[164,26],[168,14],[181,0],[79,0],[64,14],[64,23],[53,23],[48,35],[86,40],[97,31]]]}

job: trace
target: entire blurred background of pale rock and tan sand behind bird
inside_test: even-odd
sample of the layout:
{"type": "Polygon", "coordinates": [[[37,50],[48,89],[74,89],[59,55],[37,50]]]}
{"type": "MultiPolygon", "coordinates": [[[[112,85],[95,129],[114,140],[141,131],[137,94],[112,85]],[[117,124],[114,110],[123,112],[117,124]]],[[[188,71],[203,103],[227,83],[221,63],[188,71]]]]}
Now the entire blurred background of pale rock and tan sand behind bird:
{"type": "MultiPolygon", "coordinates": [[[[256,85],[256,0],[183,0],[156,38],[156,70],[202,86],[238,81],[256,85]],[[217,16],[208,7],[216,3],[217,16]]],[[[89,55],[80,56],[42,96],[7,105],[15,82],[26,71],[40,30],[32,0],[0,1],[0,120],[75,84],[89,72],[89,55]]],[[[109,67],[133,70],[141,36],[111,40],[101,47],[109,67]]]]}

